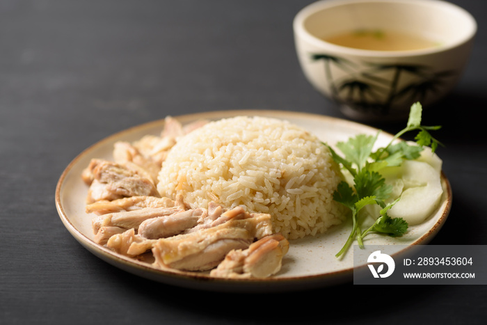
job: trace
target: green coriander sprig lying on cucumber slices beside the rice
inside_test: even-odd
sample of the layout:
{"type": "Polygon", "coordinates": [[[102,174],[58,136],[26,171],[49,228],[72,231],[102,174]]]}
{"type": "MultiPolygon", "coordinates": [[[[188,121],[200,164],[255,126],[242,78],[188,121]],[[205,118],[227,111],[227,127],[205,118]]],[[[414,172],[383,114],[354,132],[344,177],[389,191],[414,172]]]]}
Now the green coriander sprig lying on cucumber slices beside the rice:
{"type": "Polygon", "coordinates": [[[390,198],[392,186],[385,184],[385,178],[379,172],[387,166],[400,166],[404,160],[417,159],[424,146],[430,146],[431,151],[435,152],[438,145],[441,145],[429,133],[429,131],[440,129],[440,126],[421,125],[421,118],[422,106],[417,102],[410,107],[406,127],[395,134],[388,145],[375,151],[373,148],[380,131],[375,136],[358,134],[346,142],[337,143],[336,146],[342,152],[343,157],[327,145],[337,164],[349,171],[353,177],[353,187],[342,181],[333,193],[335,201],[351,209],[353,221],[350,235],[342,249],[336,254],[337,257],[342,256],[355,239],[360,248],[363,248],[363,238],[370,232],[400,237],[408,230],[408,223],[404,219],[388,216],[388,209],[394,206],[400,197],[390,204],[385,203],[390,198]],[[415,136],[415,145],[404,141],[397,142],[401,136],[413,131],[419,131],[415,136]],[[367,205],[379,205],[381,211],[375,223],[362,232],[358,212],[367,205]]]}

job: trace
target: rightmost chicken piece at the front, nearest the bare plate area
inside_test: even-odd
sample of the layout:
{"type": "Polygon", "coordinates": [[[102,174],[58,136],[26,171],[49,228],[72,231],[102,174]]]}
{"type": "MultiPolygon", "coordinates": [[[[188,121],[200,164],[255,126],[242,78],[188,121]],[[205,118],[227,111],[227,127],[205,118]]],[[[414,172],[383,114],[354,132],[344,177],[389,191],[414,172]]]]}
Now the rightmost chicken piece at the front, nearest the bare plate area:
{"type": "Polygon", "coordinates": [[[263,237],[248,249],[230,251],[225,260],[211,270],[211,276],[223,278],[267,278],[278,273],[289,241],[280,234],[263,237]]]}

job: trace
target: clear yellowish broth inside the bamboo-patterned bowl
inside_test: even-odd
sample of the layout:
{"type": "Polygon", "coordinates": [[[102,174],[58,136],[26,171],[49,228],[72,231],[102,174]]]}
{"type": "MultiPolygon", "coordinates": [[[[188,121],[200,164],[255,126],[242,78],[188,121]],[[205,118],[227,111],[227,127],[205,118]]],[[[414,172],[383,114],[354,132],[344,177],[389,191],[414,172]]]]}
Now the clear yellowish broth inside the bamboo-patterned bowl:
{"type": "Polygon", "coordinates": [[[422,35],[399,31],[356,30],[321,39],[343,47],[373,51],[410,51],[438,46],[438,42],[422,35]]]}

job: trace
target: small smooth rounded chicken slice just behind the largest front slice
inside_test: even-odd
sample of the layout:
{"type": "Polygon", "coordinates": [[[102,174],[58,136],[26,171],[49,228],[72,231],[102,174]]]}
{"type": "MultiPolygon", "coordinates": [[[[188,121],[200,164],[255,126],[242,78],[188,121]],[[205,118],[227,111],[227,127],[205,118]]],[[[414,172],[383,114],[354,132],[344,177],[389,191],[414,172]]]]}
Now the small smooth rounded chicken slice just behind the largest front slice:
{"type": "Polygon", "coordinates": [[[195,227],[206,215],[206,209],[189,209],[168,216],[147,219],[139,225],[138,235],[147,239],[178,235],[184,230],[195,227]]]}

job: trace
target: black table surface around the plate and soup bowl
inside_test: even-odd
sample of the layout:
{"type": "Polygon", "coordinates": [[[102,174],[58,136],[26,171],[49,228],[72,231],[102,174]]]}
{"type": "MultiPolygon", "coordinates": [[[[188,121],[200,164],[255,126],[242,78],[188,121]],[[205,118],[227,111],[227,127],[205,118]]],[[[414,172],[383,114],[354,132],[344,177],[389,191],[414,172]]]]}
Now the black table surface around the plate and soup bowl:
{"type": "MultiPolygon", "coordinates": [[[[483,285],[184,289],[112,267],[61,223],[54,192],[64,168],[127,127],[234,109],[345,118],[296,59],[292,19],[310,2],[0,2],[0,324],[485,324],[483,285]]],[[[487,2],[454,2],[479,31],[458,86],[425,109],[425,125],[443,126],[438,154],[454,193],[431,244],[483,245],[487,2]]]]}

